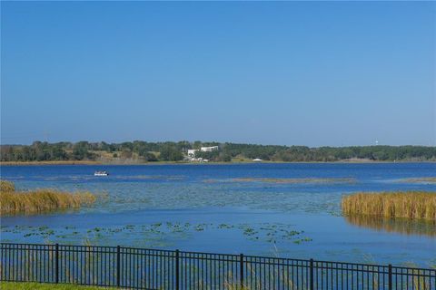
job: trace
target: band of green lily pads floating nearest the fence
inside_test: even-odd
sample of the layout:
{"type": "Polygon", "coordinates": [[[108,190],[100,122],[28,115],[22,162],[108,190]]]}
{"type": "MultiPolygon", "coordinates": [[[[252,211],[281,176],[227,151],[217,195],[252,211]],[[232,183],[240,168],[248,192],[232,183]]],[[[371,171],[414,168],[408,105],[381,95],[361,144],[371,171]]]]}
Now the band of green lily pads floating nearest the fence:
{"type": "MultiPolygon", "coordinates": [[[[289,224],[212,224],[212,223],[179,223],[165,222],[144,225],[125,225],[121,227],[91,227],[77,229],[75,227],[30,227],[30,226],[15,226],[2,227],[2,233],[9,233],[13,237],[23,237],[26,241],[40,242],[48,238],[55,238],[57,242],[63,244],[74,244],[83,241],[84,239],[92,238],[94,242],[99,242],[105,245],[119,243],[120,240],[129,239],[129,244],[134,244],[138,247],[157,247],[170,246],[170,242],[185,239],[195,235],[195,232],[206,231],[233,231],[239,233],[240,237],[245,237],[248,240],[263,243],[276,244],[279,242],[292,242],[301,244],[303,242],[312,241],[309,237],[302,237],[303,231],[290,229],[289,224]],[[137,241],[131,237],[138,237],[137,241]],[[112,242],[110,242],[112,241],[112,242]]],[[[53,241],[54,242],[54,241],[53,241]]]]}

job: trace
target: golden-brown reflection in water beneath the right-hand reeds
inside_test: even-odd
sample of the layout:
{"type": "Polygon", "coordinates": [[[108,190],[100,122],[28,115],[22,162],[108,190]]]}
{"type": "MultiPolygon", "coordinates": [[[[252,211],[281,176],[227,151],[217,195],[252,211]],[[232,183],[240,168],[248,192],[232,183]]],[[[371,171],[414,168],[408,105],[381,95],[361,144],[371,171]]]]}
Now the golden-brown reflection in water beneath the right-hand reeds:
{"type": "Polygon", "coordinates": [[[345,216],[352,226],[369,227],[378,231],[400,233],[404,235],[423,235],[436,237],[436,223],[403,218],[379,218],[372,216],[345,216]]]}

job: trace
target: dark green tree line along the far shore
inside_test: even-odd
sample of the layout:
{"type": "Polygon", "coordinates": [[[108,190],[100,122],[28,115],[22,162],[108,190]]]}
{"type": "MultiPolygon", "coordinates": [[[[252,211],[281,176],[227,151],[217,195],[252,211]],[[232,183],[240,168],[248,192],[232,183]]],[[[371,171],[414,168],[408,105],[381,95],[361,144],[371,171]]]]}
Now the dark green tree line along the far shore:
{"type": "Polygon", "coordinates": [[[211,161],[262,159],[284,162],[374,160],[436,161],[436,147],[427,146],[351,146],[319,147],[237,144],[202,141],[179,142],[57,142],[35,141],[32,145],[1,145],[1,161],[138,160],[141,162],[181,161],[187,150],[218,146],[212,152],[197,151],[196,157],[211,161]],[[103,154],[105,153],[105,154],[103,154]]]}

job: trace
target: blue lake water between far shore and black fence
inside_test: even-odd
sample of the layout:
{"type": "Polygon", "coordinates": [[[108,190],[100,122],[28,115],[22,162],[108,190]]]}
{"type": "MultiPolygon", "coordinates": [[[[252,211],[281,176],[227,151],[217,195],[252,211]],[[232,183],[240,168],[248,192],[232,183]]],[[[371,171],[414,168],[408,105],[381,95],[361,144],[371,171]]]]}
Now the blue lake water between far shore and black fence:
{"type": "Polygon", "coordinates": [[[402,180],[436,176],[435,163],[28,166],[1,175],[17,189],[100,197],[92,208],[2,218],[2,241],[436,265],[434,224],[343,218],[340,208],[355,191],[436,191],[402,180]],[[94,177],[97,169],[111,175],[94,177]],[[262,180],[299,178],[319,182],[262,180]]]}

